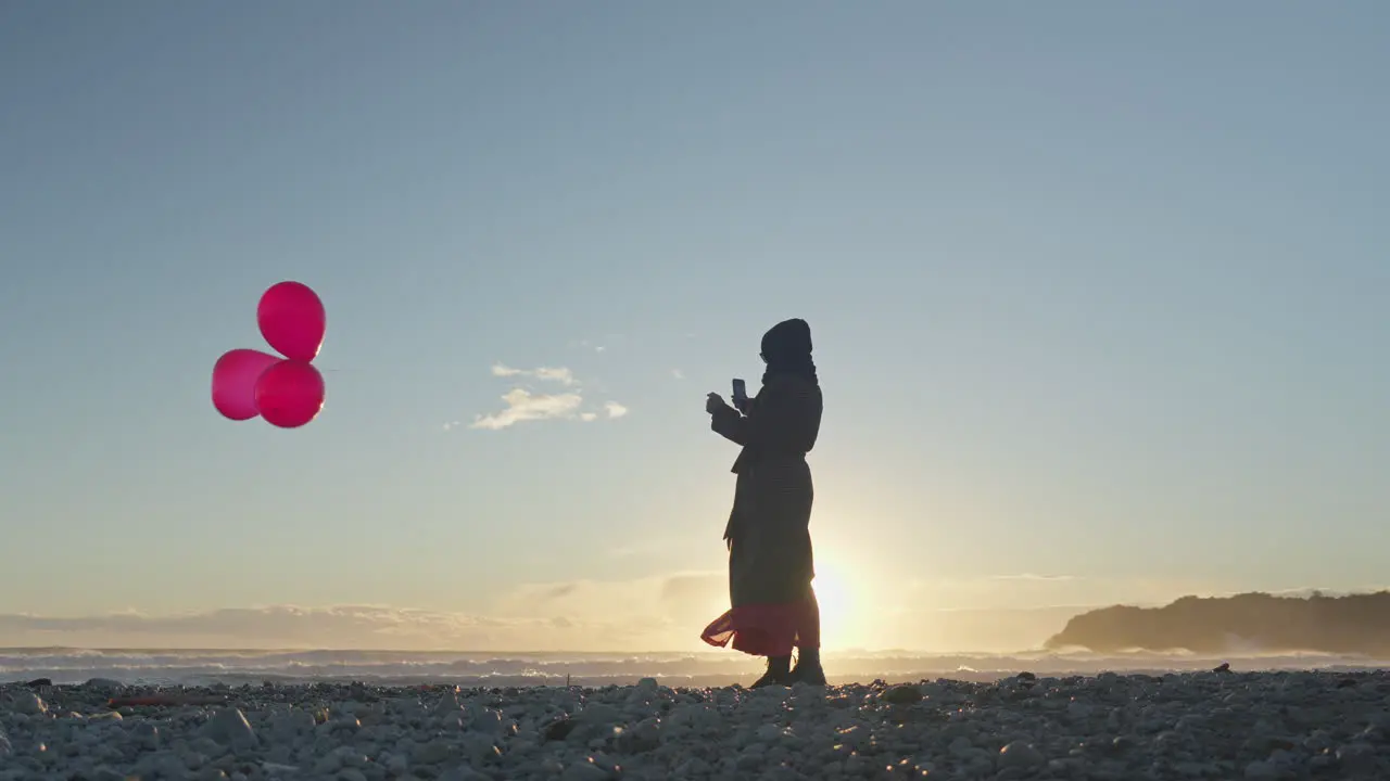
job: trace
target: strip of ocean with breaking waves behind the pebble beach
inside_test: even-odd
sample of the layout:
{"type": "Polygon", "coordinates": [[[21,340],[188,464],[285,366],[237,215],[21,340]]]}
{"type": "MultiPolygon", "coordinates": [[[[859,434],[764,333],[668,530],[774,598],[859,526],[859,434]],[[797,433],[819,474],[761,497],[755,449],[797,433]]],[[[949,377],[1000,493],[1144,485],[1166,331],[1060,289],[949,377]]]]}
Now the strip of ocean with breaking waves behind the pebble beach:
{"type": "MultiPolygon", "coordinates": [[[[1234,671],[1390,667],[1390,660],[1316,653],[1241,653],[1215,657],[1182,653],[824,653],[831,682],[888,682],[956,678],[992,681],[1020,671],[1037,675],[1180,673],[1229,663],[1234,671]]],[[[671,687],[748,682],[756,659],[712,653],[467,653],[384,650],[165,650],[165,649],[0,649],[0,682],[50,678],[79,684],[111,678],[150,685],[304,684],[364,681],[381,685],[452,682],[463,687],[603,687],[657,678],[671,687]]]]}

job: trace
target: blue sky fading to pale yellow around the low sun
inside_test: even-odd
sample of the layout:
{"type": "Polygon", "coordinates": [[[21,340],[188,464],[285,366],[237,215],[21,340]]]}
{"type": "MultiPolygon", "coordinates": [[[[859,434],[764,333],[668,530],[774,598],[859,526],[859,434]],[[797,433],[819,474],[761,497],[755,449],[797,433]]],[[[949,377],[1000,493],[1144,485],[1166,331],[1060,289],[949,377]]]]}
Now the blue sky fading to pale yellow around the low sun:
{"type": "Polygon", "coordinates": [[[0,613],[698,648],[735,454],[703,396],[785,317],[865,645],[1386,582],[1386,40],[1371,0],[0,4],[0,613]],[[327,406],[222,420],[286,278],[327,406]],[[468,427],[516,386],[599,420],[468,427]],[[681,573],[695,607],[619,605],[681,573]]]}

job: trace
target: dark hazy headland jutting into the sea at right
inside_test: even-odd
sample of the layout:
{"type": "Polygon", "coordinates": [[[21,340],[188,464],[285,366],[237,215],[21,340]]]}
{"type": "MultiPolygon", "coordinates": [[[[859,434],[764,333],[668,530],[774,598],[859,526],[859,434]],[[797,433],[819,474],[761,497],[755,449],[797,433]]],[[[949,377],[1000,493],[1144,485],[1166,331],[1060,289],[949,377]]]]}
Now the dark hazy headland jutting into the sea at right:
{"type": "Polygon", "coordinates": [[[1390,591],[1327,596],[1184,596],[1163,607],[1116,605],[1073,617],[1048,649],[1191,653],[1350,653],[1390,657],[1390,591]]]}

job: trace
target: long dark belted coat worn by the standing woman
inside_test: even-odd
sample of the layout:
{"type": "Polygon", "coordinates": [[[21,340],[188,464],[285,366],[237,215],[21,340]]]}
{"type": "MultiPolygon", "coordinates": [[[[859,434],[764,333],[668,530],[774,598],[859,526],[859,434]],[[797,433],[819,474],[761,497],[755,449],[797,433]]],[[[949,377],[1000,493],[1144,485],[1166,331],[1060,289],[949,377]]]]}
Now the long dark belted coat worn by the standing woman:
{"type": "Polygon", "coordinates": [[[784,605],[805,599],[816,577],[810,546],[815,486],[806,453],[820,434],[823,400],[816,382],[774,375],[748,414],[719,409],[710,428],[744,449],[728,541],[728,595],[733,607],[784,605]]]}

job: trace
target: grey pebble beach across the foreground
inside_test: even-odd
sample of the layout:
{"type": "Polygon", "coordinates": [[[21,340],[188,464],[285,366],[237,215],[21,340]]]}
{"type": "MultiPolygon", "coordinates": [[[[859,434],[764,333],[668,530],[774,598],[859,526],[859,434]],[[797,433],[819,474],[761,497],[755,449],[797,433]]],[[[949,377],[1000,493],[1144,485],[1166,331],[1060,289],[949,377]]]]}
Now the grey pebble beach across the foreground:
{"type": "Polygon", "coordinates": [[[0,687],[0,781],[1390,778],[1390,674],[0,687]]]}

